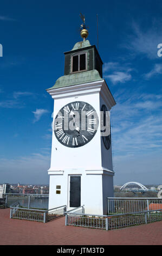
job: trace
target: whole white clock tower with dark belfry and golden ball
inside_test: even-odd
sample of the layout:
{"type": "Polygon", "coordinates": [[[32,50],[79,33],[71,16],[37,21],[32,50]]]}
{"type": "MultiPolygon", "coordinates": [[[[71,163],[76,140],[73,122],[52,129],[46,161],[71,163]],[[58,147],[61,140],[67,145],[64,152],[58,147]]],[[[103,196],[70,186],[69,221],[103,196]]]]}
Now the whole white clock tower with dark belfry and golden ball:
{"type": "Polygon", "coordinates": [[[86,40],[65,52],[64,76],[47,92],[54,99],[49,209],[85,205],[86,214],[107,214],[113,197],[110,110],[115,100],[102,78],[102,60],[86,40]]]}

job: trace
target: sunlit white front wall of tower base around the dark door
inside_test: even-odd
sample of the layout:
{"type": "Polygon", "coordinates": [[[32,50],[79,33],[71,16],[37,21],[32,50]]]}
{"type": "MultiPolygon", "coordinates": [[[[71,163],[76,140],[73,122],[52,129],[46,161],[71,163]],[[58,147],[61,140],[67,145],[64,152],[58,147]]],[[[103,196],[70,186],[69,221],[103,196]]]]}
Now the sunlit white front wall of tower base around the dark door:
{"type": "Polygon", "coordinates": [[[102,174],[87,174],[86,170],[71,170],[63,175],[50,175],[49,209],[67,205],[69,207],[70,175],[81,176],[81,205],[86,214],[103,214],[102,174]],[[56,194],[56,185],[61,186],[61,194],[56,194]]]}

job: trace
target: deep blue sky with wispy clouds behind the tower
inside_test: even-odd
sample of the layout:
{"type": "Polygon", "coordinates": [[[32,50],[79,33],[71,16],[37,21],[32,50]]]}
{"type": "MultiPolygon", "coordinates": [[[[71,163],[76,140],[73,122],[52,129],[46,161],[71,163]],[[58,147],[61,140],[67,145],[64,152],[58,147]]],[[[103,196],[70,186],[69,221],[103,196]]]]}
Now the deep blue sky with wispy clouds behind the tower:
{"type": "Polygon", "coordinates": [[[53,100],[64,54],[81,41],[79,14],[97,45],[116,106],[112,110],[114,184],[161,184],[162,3],[1,1],[0,182],[48,184],[53,100]]]}

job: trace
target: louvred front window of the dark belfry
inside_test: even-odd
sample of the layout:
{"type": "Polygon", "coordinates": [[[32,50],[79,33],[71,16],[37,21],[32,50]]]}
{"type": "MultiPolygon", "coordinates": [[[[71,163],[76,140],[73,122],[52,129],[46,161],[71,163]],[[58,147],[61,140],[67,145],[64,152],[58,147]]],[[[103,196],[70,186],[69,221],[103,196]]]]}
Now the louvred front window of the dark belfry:
{"type": "Polygon", "coordinates": [[[71,72],[80,72],[87,70],[87,52],[77,53],[72,56],[71,72]]]}

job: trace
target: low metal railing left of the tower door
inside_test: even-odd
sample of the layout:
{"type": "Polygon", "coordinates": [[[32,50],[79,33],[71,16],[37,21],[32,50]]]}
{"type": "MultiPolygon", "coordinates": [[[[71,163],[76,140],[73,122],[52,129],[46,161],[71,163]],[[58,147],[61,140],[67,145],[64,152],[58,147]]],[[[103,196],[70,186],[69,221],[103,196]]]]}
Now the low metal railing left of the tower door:
{"type": "Polygon", "coordinates": [[[18,206],[10,206],[10,218],[46,223],[54,220],[55,218],[64,216],[64,212],[66,211],[66,205],[49,210],[20,208],[18,206]]]}

